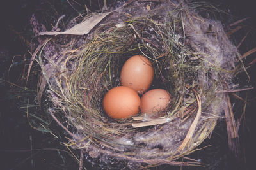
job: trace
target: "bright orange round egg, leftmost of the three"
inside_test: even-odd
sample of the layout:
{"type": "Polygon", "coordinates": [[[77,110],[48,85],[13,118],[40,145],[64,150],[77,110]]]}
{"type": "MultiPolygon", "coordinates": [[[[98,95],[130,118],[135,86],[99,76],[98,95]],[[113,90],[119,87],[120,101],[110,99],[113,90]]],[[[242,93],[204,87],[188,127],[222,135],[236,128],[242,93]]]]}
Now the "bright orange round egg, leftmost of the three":
{"type": "Polygon", "coordinates": [[[136,115],[140,107],[140,96],[130,87],[115,87],[109,90],[103,99],[103,108],[111,118],[127,118],[136,115]]]}

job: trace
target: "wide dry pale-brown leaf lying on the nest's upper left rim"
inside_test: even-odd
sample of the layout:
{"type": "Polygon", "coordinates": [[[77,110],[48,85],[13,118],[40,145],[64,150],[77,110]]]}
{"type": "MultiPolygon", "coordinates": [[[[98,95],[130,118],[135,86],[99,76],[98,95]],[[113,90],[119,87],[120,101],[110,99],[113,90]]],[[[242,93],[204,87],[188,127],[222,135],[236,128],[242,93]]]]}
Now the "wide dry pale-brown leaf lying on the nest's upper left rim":
{"type": "Polygon", "coordinates": [[[64,32],[40,32],[39,35],[59,35],[59,34],[72,34],[72,35],[84,35],[88,34],[95,25],[97,25],[103,18],[105,18],[109,13],[100,13],[92,15],[92,17],[84,20],[83,22],[75,25],[74,27],[68,29],[64,32]]]}

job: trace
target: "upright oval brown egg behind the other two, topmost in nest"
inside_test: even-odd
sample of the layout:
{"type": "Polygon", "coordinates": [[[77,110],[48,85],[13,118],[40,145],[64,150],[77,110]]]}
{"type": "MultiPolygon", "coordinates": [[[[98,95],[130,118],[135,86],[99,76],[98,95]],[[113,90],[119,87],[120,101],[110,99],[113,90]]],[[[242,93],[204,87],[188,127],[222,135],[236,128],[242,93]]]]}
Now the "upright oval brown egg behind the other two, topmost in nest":
{"type": "Polygon", "coordinates": [[[146,57],[134,55],[125,62],[120,78],[122,85],[143,94],[153,81],[154,69],[146,57]]]}

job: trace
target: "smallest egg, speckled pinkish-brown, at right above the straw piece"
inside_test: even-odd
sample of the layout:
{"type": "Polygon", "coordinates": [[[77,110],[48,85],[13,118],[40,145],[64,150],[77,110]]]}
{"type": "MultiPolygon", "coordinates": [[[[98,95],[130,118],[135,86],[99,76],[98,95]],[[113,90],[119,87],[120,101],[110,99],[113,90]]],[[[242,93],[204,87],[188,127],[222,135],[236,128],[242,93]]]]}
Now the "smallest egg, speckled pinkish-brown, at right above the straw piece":
{"type": "Polygon", "coordinates": [[[149,90],[141,97],[141,113],[156,113],[163,111],[170,101],[171,96],[166,90],[149,90]]]}

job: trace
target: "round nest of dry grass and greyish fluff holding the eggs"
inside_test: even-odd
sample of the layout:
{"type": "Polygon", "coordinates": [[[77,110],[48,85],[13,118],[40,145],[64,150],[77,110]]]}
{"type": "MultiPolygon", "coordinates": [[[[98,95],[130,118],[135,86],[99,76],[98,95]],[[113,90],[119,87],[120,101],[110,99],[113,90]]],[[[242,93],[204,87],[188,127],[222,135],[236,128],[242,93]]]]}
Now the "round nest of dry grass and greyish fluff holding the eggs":
{"type": "Polygon", "coordinates": [[[221,22],[196,10],[195,3],[183,1],[120,3],[86,35],[42,41],[39,94],[47,84],[49,112],[68,120],[68,128],[63,126],[72,136],[68,146],[109,168],[120,160],[130,168],[196,164],[175,160],[193,152],[214,129],[238,53],[221,22]],[[120,85],[125,60],[138,54],[152,61],[150,88],[168,90],[172,102],[155,115],[113,120],[104,113],[102,98],[120,85]]]}

